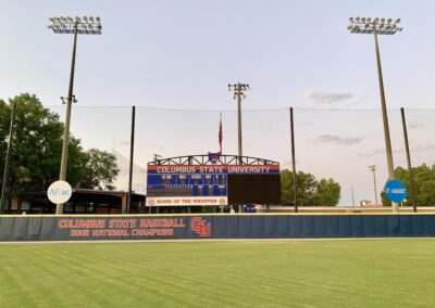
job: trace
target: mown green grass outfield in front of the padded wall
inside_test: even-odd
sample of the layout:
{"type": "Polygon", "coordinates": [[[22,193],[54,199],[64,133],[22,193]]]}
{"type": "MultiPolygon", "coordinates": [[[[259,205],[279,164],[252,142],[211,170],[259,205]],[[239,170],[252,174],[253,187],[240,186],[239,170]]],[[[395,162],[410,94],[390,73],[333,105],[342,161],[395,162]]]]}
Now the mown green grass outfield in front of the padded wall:
{"type": "Polygon", "coordinates": [[[0,244],[0,307],[435,307],[435,239],[0,244]]]}

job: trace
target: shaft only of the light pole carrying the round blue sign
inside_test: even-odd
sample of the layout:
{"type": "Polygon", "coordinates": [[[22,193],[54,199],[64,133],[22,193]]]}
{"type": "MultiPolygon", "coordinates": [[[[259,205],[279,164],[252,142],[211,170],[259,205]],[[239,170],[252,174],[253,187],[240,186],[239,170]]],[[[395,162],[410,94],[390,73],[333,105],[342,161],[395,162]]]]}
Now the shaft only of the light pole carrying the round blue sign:
{"type": "MultiPolygon", "coordinates": [[[[387,107],[385,103],[385,92],[384,92],[384,81],[382,78],[382,67],[381,67],[381,54],[380,54],[380,47],[377,42],[377,30],[374,27],[374,43],[376,49],[376,64],[377,64],[377,76],[380,79],[380,90],[381,90],[381,105],[382,105],[382,118],[384,123],[384,134],[385,134],[385,147],[387,154],[387,166],[388,166],[388,178],[389,180],[395,179],[394,174],[394,164],[393,164],[393,151],[391,151],[391,141],[389,138],[389,127],[388,127],[388,115],[387,115],[387,107]]],[[[377,196],[376,196],[377,198],[377,196]]],[[[377,204],[377,203],[376,203],[377,204]]],[[[391,202],[391,208],[394,213],[399,211],[399,205],[395,202],[391,202]]]]}

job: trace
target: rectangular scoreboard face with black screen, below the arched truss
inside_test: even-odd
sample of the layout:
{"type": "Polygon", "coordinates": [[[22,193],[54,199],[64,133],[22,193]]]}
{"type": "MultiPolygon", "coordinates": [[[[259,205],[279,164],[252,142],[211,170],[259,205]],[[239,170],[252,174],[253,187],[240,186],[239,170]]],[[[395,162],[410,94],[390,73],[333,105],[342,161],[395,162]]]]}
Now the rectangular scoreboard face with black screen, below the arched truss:
{"type": "MultiPolygon", "coordinates": [[[[235,201],[252,201],[250,203],[260,203],[260,200],[275,201],[270,197],[273,191],[270,187],[273,183],[271,179],[276,177],[279,179],[279,165],[148,165],[147,205],[236,204],[232,200],[228,201],[228,196],[234,197],[235,201]],[[234,180],[233,177],[236,175],[245,176],[246,178],[236,177],[236,180],[234,180]],[[275,177],[258,177],[259,175],[275,177]],[[250,178],[250,176],[254,177],[250,178]],[[234,193],[233,184],[228,182],[232,178],[234,193]],[[264,191],[270,193],[266,196],[262,196],[262,198],[248,198],[247,195],[244,195],[241,189],[244,184],[240,180],[244,181],[244,179],[247,181],[246,185],[256,184],[257,188],[261,187],[261,179],[263,179],[265,181],[264,191]]],[[[279,188],[279,184],[277,188],[279,188]]],[[[247,190],[249,191],[249,187],[247,187],[247,190]]]]}

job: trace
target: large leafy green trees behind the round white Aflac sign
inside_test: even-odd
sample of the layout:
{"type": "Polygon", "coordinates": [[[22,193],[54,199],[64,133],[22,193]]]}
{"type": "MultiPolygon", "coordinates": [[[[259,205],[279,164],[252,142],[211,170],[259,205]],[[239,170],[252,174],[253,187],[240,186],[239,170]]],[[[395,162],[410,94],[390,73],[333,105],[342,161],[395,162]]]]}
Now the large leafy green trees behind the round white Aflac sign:
{"type": "MultiPolygon", "coordinates": [[[[47,190],[59,179],[63,124],[59,120],[59,115],[45,108],[36,95],[24,93],[9,101],[11,104],[16,103],[8,184],[11,188],[10,194],[47,190]]],[[[0,153],[2,154],[7,151],[10,117],[10,104],[0,100],[0,153]]],[[[0,158],[0,170],[4,169],[4,156],[3,154],[0,158]]],[[[80,188],[88,189],[108,187],[117,172],[114,156],[98,150],[84,151],[80,140],[71,137],[66,181],[72,187],[77,187],[79,183],[80,188]],[[104,159],[99,164],[94,162],[99,158],[104,159]],[[95,170],[94,167],[97,165],[99,168],[95,170]]]]}

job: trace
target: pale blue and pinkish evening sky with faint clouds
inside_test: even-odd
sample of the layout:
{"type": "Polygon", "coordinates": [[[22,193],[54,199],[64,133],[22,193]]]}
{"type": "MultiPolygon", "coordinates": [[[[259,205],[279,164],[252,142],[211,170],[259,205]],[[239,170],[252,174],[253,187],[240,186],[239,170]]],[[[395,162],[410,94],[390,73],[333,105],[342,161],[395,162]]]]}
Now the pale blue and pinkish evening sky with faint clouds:
{"type": "MultiPolygon", "coordinates": [[[[102,35],[77,41],[72,133],[85,147],[128,157],[137,106],[135,164],[217,150],[237,153],[236,103],[227,84],[249,84],[244,154],[291,166],[288,107],[295,107],[297,168],[341,185],[340,205],[374,200],[386,180],[374,39],[347,30],[349,16],[401,18],[380,37],[395,165],[406,166],[407,110],[414,165],[434,164],[434,1],[32,1],[0,0],[0,99],[22,92],[64,118],[71,35],[51,16],[100,16],[102,35]]],[[[136,187],[145,189],[144,177],[136,187]]],[[[120,189],[126,189],[125,181],[120,189]]]]}

